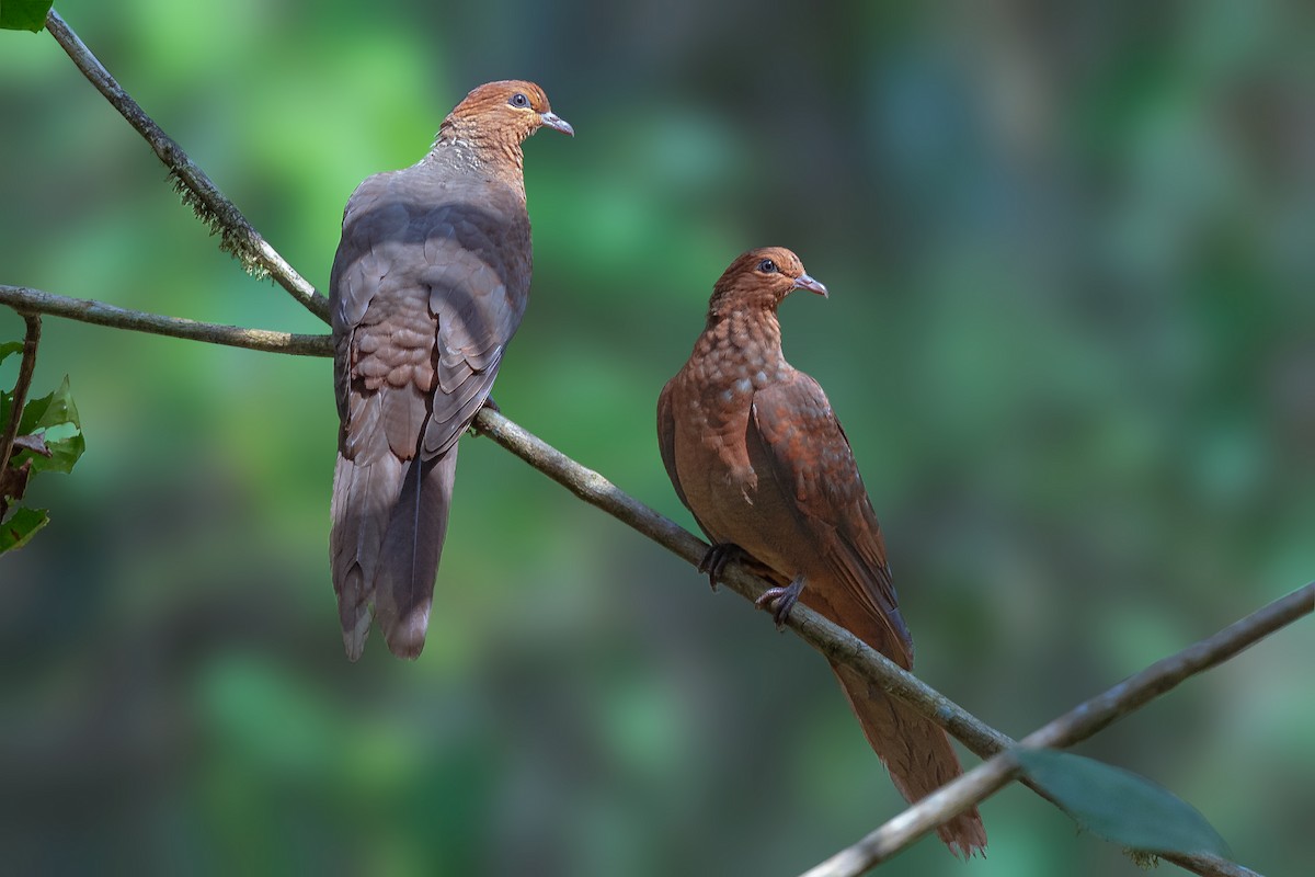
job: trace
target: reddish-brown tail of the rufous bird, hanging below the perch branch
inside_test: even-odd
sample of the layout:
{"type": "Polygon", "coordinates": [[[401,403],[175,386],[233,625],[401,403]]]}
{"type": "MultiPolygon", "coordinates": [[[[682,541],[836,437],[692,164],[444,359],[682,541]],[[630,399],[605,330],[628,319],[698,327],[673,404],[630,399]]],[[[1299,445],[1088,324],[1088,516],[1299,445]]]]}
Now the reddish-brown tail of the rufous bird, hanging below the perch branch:
{"type": "MultiPolygon", "coordinates": [[[[840,664],[831,664],[863,734],[890,772],[899,794],[914,803],[960,773],[959,757],[945,731],[874,682],[840,664]]],[[[986,847],[977,807],[936,828],[949,851],[964,859],[986,847]]]]}

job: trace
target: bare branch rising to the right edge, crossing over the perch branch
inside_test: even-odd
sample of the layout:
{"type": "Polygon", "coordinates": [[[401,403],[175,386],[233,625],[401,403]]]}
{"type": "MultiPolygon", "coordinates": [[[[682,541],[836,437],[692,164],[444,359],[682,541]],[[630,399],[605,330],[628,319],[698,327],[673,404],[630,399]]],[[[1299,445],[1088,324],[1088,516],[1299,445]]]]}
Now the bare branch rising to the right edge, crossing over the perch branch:
{"type": "MultiPolygon", "coordinates": [[[[1114,721],[1172,690],[1184,680],[1228,660],[1252,643],[1315,611],[1315,582],[1298,588],[1195,646],[1165,657],[1126,678],[1103,694],[1069,710],[1023,738],[1022,746],[1064,748],[1085,740],[1114,721]]],[[[806,872],[803,877],[853,877],[885,861],[955,814],[985,801],[1018,776],[1019,767],[1005,751],[942,786],[859,843],[806,872]]],[[[1216,856],[1165,855],[1164,859],[1198,874],[1224,877],[1255,872],[1216,856]]]]}

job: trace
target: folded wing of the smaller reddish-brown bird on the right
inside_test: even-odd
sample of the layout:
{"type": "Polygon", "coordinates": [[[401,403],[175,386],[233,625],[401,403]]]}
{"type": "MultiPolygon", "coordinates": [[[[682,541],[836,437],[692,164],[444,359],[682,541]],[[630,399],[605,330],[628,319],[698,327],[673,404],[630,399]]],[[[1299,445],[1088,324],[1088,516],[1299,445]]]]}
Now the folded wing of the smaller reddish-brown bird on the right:
{"type": "MultiPolygon", "coordinates": [[[[885,631],[882,643],[873,644],[911,663],[913,638],[899,614],[877,517],[849,439],[822,387],[793,372],[755,392],[747,440],[756,446],[752,456],[767,460],[765,475],[776,480],[786,508],[814,536],[847,602],[861,606],[869,622],[885,631]]],[[[855,623],[846,626],[853,628],[855,623]]]]}

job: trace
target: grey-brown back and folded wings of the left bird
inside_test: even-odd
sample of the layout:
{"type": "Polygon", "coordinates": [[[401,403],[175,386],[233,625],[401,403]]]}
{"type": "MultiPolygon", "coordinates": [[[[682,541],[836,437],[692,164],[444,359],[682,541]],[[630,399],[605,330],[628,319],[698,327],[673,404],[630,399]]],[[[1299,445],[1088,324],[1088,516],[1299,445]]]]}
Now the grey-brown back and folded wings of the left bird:
{"type": "Polygon", "coordinates": [[[330,280],[345,455],[451,448],[521,322],[530,264],[525,200],[510,187],[413,167],[358,188],[330,280]]]}

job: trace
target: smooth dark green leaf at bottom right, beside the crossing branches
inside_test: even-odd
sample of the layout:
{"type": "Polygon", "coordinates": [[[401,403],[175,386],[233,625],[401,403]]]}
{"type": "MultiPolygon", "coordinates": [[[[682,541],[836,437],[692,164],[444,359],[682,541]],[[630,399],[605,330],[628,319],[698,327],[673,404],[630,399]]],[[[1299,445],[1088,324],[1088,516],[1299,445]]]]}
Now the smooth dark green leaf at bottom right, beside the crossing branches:
{"type": "Polygon", "coordinates": [[[1195,807],[1145,777],[1070,752],[1019,747],[1014,755],[1023,773],[1091,834],[1132,849],[1231,856],[1195,807]]]}

